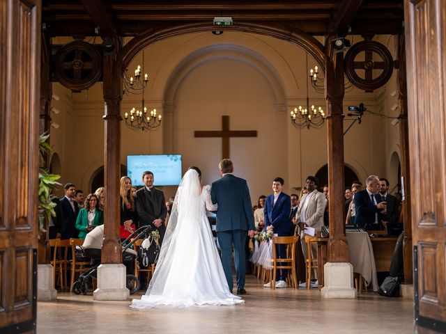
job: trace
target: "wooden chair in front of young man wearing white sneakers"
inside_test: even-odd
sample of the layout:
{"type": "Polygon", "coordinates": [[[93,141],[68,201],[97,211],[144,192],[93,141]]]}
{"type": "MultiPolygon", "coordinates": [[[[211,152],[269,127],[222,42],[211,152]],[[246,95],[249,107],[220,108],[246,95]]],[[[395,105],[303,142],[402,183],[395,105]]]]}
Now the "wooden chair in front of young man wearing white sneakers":
{"type": "Polygon", "coordinates": [[[298,242],[298,237],[273,237],[272,238],[272,289],[276,288],[276,273],[277,269],[291,269],[290,285],[294,285],[296,289],[299,288],[298,278],[295,272],[295,243],[298,242]],[[286,258],[281,259],[277,257],[276,245],[286,245],[286,258]]]}

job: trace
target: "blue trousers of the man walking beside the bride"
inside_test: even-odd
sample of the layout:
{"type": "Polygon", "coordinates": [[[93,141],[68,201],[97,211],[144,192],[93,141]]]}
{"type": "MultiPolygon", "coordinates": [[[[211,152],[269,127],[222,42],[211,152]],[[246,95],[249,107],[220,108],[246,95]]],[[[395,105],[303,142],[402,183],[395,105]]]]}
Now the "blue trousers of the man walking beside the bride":
{"type": "Polygon", "coordinates": [[[217,232],[218,244],[222,251],[222,265],[229,290],[233,289],[232,281],[232,245],[234,246],[234,264],[236,265],[237,287],[245,287],[245,241],[247,231],[229,230],[217,232]]]}

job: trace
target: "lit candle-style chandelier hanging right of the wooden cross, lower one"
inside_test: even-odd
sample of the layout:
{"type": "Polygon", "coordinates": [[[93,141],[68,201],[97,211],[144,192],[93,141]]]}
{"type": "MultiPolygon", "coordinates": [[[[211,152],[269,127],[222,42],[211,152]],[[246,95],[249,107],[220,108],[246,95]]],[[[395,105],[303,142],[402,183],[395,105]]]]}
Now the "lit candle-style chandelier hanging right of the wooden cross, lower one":
{"type": "MultiPolygon", "coordinates": [[[[306,67],[308,68],[308,54],[306,57],[306,67]]],[[[310,79],[311,81],[311,79],[310,79]]],[[[321,106],[309,106],[309,97],[308,97],[308,80],[305,80],[307,83],[307,106],[299,106],[298,108],[294,108],[291,110],[291,122],[298,129],[310,127],[319,128],[322,127],[323,122],[325,122],[325,112],[323,111],[321,106]]]]}

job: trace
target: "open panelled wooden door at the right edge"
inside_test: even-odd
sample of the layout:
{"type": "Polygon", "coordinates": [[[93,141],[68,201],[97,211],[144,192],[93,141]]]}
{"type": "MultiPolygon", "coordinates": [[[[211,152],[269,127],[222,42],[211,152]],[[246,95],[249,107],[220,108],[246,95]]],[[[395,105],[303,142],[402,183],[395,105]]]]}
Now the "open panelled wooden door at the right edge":
{"type": "Polygon", "coordinates": [[[446,1],[405,0],[417,333],[446,333],[446,1]]]}

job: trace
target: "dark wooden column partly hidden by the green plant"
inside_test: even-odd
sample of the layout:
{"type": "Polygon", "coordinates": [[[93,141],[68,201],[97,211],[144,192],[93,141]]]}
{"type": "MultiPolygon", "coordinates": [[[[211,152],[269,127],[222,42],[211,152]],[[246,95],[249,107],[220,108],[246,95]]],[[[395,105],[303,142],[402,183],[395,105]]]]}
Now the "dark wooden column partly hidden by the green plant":
{"type": "MultiPolygon", "coordinates": [[[[40,49],[40,134],[45,132],[49,134],[49,125],[51,123],[51,116],[49,109],[51,108],[52,100],[52,84],[49,82],[49,56],[51,42],[49,33],[43,30],[42,33],[42,47],[40,49]]],[[[50,141],[50,139],[48,139],[50,141]]],[[[49,154],[45,154],[44,161],[40,161],[40,166],[49,169],[49,154]]],[[[38,263],[49,264],[51,262],[51,254],[49,250],[49,221],[44,222],[46,232],[39,231],[38,236],[38,263]]]]}

